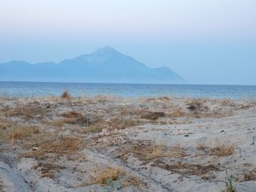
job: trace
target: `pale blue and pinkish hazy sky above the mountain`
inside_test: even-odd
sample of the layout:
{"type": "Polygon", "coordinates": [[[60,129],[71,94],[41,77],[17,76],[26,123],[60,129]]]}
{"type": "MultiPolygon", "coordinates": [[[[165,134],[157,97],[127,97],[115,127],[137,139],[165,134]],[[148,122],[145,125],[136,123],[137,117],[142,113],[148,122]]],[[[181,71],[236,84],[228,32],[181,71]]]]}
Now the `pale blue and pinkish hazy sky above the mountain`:
{"type": "Polygon", "coordinates": [[[0,0],[0,62],[110,45],[194,84],[256,85],[255,0],[0,0]]]}

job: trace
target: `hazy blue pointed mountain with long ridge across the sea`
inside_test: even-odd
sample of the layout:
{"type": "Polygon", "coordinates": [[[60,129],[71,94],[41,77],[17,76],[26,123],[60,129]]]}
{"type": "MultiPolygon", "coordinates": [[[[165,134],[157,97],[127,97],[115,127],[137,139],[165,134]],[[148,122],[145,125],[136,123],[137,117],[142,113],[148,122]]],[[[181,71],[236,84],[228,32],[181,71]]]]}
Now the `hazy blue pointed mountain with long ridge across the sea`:
{"type": "Polygon", "coordinates": [[[53,62],[29,64],[10,61],[0,64],[0,80],[45,82],[184,83],[167,67],[150,68],[112,47],[53,62]]]}

